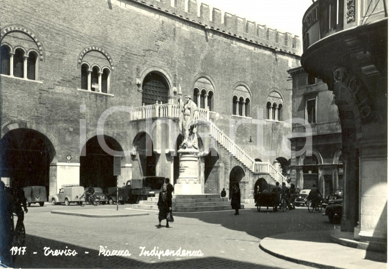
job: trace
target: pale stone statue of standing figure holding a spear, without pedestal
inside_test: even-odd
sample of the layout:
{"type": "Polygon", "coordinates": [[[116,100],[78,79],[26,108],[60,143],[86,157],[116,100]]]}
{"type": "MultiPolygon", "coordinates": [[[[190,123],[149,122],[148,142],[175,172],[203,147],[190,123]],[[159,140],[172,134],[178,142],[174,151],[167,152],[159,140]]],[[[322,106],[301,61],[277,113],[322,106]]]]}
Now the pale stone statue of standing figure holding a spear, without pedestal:
{"type": "Polygon", "coordinates": [[[182,100],[182,93],[179,93],[178,105],[180,108],[180,131],[183,137],[183,141],[180,145],[180,148],[195,148],[199,149],[197,143],[197,124],[199,119],[199,111],[197,110],[197,105],[193,102],[192,98],[189,95],[185,96],[186,102],[182,100]]]}

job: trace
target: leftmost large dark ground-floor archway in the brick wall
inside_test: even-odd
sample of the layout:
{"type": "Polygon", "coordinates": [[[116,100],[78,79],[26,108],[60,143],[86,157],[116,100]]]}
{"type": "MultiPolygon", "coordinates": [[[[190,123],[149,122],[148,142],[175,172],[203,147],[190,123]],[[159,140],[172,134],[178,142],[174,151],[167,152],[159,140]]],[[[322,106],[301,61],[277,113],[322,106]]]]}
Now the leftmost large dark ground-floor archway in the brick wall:
{"type": "Polygon", "coordinates": [[[49,194],[49,168],[55,158],[54,146],[42,133],[18,128],[0,141],[0,175],[11,187],[44,186],[49,194]]]}

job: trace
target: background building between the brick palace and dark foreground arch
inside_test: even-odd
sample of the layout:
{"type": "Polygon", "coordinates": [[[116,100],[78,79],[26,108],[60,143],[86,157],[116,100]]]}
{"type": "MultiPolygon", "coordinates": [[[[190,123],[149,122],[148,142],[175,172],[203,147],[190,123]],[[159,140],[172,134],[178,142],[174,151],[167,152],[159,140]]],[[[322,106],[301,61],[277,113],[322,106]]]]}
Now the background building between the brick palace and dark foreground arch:
{"type": "Polygon", "coordinates": [[[293,79],[291,182],[299,189],[318,186],[323,197],[343,190],[341,126],[327,84],[304,72],[288,70],[293,79]]]}

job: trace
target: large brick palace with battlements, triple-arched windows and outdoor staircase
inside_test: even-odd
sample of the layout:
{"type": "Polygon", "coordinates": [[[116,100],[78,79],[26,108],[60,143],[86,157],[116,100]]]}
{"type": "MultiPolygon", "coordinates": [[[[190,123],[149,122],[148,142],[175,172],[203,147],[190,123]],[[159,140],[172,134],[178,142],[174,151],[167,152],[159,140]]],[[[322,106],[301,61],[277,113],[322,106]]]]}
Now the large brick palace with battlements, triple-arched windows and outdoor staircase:
{"type": "MultiPolygon", "coordinates": [[[[0,2],[1,177],[116,186],[179,175],[178,94],[199,107],[204,193],[284,182],[299,38],[196,1],[0,2]],[[210,14],[212,19],[210,20],[210,14]],[[283,142],[284,141],[284,142],[283,142]],[[286,139],[287,141],[287,139],[286,139]]],[[[288,153],[289,152],[289,153],[288,153]]]]}

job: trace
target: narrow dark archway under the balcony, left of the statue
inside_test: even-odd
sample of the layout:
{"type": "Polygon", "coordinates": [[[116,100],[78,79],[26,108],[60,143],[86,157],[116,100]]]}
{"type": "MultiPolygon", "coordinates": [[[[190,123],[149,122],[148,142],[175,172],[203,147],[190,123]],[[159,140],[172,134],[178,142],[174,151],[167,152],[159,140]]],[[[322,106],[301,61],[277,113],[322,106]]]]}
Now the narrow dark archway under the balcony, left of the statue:
{"type": "Polygon", "coordinates": [[[143,176],[155,176],[157,156],[154,153],[153,140],[146,132],[140,132],[134,138],[133,147],[137,152],[140,173],[143,176]]]}

